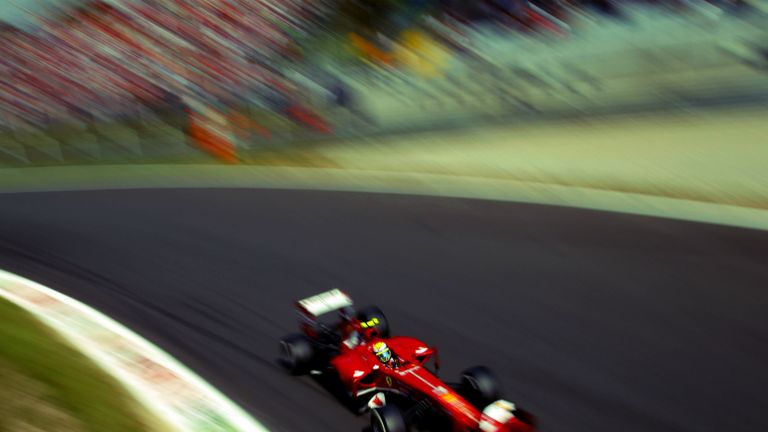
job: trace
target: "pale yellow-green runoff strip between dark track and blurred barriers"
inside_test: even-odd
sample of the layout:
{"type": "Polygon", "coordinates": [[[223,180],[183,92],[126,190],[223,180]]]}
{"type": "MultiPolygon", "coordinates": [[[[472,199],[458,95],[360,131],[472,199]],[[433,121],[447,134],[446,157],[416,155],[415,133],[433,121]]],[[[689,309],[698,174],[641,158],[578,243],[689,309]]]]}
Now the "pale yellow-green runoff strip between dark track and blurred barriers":
{"type": "Polygon", "coordinates": [[[267,187],[476,197],[768,229],[768,112],[562,120],[259,153],[0,170],[0,191],[267,187]]]}

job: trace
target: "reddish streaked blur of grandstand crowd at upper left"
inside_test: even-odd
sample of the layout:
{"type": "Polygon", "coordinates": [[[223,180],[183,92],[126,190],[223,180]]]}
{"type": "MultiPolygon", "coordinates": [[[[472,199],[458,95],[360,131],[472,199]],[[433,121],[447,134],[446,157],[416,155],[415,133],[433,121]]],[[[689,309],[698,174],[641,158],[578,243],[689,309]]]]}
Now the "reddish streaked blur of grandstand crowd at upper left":
{"type": "Polygon", "coordinates": [[[303,0],[95,1],[0,29],[5,125],[292,97],[272,67],[309,22],[303,0]],[[273,94],[269,94],[273,93],[273,94]]]}

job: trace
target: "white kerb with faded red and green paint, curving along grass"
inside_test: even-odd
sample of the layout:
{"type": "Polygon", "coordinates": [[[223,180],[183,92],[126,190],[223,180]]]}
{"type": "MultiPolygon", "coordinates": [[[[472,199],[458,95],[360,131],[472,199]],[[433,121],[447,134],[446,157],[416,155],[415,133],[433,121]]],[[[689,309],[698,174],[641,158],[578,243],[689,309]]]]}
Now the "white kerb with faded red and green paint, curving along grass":
{"type": "Polygon", "coordinates": [[[98,310],[3,269],[0,296],[62,336],[172,430],[268,432],[170,354],[98,310]]]}

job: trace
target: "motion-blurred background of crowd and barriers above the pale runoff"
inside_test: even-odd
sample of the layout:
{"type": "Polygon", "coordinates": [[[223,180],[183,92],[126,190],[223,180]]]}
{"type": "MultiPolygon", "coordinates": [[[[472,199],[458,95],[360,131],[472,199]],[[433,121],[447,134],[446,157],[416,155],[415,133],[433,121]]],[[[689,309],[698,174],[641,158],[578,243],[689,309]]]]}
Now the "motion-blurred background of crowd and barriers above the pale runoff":
{"type": "Polygon", "coordinates": [[[0,163],[760,107],[762,0],[11,0],[0,163]]]}

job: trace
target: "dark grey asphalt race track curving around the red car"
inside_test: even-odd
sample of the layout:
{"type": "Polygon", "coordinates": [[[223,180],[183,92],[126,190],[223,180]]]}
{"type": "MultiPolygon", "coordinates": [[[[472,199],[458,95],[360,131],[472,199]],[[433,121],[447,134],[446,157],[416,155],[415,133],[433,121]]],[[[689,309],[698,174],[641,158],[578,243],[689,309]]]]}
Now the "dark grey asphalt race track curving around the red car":
{"type": "Polygon", "coordinates": [[[361,431],[275,363],[330,287],[487,364],[542,431],[768,431],[768,233],[479,200],[0,195],[0,268],[133,327],[277,431],[361,431]]]}

